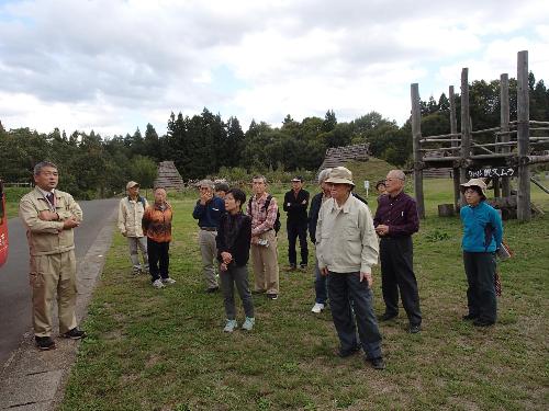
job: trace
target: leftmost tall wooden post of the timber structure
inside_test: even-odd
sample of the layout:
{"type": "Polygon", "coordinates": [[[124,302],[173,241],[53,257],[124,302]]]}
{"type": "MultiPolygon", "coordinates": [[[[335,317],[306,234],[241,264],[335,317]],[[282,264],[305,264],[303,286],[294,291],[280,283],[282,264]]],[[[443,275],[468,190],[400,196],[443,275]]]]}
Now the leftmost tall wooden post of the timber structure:
{"type": "Polygon", "coordinates": [[[422,109],[419,106],[419,87],[413,83],[412,98],[412,148],[414,151],[414,193],[419,218],[425,218],[425,203],[423,197],[423,170],[422,170],[422,109]]]}

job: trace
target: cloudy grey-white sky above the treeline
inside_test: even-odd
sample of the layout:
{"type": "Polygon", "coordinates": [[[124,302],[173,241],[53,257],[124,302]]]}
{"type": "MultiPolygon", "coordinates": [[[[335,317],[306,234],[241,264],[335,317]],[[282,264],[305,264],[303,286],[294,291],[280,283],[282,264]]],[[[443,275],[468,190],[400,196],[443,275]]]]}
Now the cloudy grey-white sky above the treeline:
{"type": "Polygon", "coordinates": [[[0,121],[103,136],[166,133],[171,111],[281,124],[370,111],[402,124],[410,84],[436,99],[516,77],[549,81],[547,0],[0,0],[0,121]]]}

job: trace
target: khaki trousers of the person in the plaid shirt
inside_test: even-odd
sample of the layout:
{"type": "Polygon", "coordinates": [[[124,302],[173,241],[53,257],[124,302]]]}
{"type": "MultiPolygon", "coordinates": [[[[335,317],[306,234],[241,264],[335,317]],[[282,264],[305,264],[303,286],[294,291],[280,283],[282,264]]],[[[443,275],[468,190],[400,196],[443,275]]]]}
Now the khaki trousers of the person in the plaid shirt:
{"type": "Polygon", "coordinates": [[[254,290],[279,294],[277,236],[274,230],[269,230],[261,233],[259,238],[269,241],[269,246],[251,244],[254,290]]]}

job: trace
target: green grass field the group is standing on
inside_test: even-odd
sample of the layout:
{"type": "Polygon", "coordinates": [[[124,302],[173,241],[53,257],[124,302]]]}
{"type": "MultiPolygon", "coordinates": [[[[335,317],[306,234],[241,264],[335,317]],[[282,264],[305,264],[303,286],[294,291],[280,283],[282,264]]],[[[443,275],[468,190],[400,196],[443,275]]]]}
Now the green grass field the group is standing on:
{"type": "MultiPolygon", "coordinates": [[[[516,256],[500,265],[497,324],[479,330],[461,321],[467,305],[459,220],[435,217],[437,204],[451,203],[450,189],[450,181],[426,183],[427,219],[414,236],[424,331],[407,334],[403,310],[381,326],[385,370],[371,369],[360,356],[334,356],[338,342],[329,311],[311,312],[312,267],[281,271],[278,300],[254,297],[253,332],[223,333],[222,296],[203,293],[194,201],[181,197],[173,201],[170,250],[177,284],[157,290],[148,277],[133,277],[124,239],[115,235],[82,324],[89,338],[60,409],[547,409],[549,218],[505,224],[516,256]]],[[[281,193],[277,190],[277,197],[281,193]]],[[[549,209],[546,197],[533,193],[549,209]]],[[[283,266],[284,228],[279,239],[283,266]]],[[[376,269],[378,312],[383,309],[380,283],[376,269]]]]}

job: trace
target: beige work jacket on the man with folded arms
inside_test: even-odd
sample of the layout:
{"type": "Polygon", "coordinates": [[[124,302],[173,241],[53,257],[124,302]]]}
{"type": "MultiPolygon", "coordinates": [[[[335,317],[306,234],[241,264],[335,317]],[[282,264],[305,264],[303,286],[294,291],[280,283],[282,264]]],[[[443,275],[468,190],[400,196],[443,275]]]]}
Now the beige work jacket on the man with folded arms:
{"type": "Polygon", "coordinates": [[[36,187],[25,194],[19,203],[19,216],[26,227],[26,238],[31,255],[58,254],[75,249],[72,229],[64,229],[63,221],[75,216],[82,220],[82,209],[68,193],[55,190],[55,212],[57,221],[43,221],[38,213],[49,210],[49,203],[36,187]]]}

